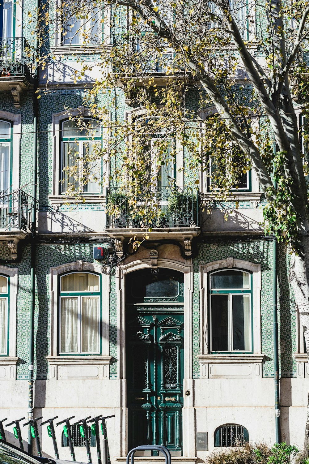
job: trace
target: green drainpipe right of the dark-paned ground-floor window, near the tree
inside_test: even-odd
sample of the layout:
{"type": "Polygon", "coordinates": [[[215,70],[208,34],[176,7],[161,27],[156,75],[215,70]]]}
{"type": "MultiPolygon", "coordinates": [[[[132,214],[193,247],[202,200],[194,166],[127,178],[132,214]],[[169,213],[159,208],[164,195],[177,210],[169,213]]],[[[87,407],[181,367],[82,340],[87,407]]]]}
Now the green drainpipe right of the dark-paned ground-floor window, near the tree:
{"type": "MultiPolygon", "coordinates": [[[[276,155],[276,143],[273,148],[276,155]]],[[[277,185],[274,182],[274,187],[277,185]]],[[[278,314],[277,314],[277,238],[273,240],[272,258],[272,315],[273,315],[273,340],[274,340],[274,369],[275,369],[275,423],[276,423],[276,443],[281,443],[280,426],[280,384],[279,384],[279,342],[278,342],[278,314]]]]}

